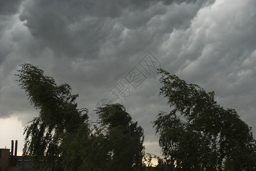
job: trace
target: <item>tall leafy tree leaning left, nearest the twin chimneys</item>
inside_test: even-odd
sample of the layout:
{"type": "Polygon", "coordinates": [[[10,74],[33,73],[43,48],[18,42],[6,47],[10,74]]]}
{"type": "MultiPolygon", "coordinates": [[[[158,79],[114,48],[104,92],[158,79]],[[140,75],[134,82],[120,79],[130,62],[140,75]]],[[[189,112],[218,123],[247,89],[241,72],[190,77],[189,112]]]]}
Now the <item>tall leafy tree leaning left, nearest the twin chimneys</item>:
{"type": "Polygon", "coordinates": [[[23,64],[18,70],[19,86],[25,89],[39,116],[25,127],[23,156],[30,156],[35,166],[50,170],[78,170],[79,149],[71,149],[71,137],[89,135],[87,109],[78,109],[68,84],[57,86],[37,66],[23,64]],[[69,156],[69,157],[67,157],[69,156]],[[71,158],[70,158],[71,157],[71,158]],[[47,162],[45,162],[47,161],[47,162]],[[43,162],[43,164],[42,164],[43,162]]]}

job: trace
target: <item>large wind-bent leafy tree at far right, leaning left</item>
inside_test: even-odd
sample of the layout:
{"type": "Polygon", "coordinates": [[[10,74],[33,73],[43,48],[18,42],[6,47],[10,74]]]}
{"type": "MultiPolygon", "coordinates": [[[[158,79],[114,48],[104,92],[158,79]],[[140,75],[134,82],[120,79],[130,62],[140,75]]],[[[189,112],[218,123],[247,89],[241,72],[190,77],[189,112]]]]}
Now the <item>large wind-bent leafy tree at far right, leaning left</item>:
{"type": "Polygon", "coordinates": [[[159,69],[171,111],[153,121],[163,156],[179,170],[255,170],[251,128],[196,84],[159,69]]]}

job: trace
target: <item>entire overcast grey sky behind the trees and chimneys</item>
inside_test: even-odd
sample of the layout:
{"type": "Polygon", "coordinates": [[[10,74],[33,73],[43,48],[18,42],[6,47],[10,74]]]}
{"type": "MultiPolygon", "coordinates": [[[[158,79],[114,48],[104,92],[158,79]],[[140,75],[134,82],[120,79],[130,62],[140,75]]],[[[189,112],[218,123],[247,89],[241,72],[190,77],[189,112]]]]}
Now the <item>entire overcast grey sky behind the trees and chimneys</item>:
{"type": "Polygon", "coordinates": [[[125,105],[148,153],[161,155],[151,121],[170,111],[154,67],[214,91],[256,136],[255,0],[0,0],[0,148],[18,140],[19,154],[39,112],[15,81],[23,63],[69,84],[92,121],[101,99],[125,105]]]}

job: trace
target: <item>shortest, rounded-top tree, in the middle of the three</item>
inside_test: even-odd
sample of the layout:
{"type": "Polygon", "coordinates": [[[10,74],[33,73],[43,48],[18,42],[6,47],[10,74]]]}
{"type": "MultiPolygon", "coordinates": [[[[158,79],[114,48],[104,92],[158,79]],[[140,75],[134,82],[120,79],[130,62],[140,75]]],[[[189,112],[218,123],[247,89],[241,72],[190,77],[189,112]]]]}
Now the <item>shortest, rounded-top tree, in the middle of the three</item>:
{"type": "Polygon", "coordinates": [[[98,135],[101,135],[106,149],[104,170],[142,169],[143,129],[131,121],[125,107],[121,104],[105,105],[96,113],[100,123],[98,135]]]}

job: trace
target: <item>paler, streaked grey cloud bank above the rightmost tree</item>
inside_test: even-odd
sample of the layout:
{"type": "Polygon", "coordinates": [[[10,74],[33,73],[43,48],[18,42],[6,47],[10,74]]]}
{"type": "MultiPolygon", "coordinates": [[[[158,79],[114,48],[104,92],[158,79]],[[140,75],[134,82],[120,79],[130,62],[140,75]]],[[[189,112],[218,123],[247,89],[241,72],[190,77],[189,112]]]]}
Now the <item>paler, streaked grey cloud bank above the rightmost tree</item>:
{"type": "Polygon", "coordinates": [[[235,108],[254,132],[255,7],[255,1],[218,1],[210,10],[201,9],[187,30],[175,30],[161,48],[170,47],[162,59],[169,61],[169,71],[215,91],[218,103],[235,108]]]}

